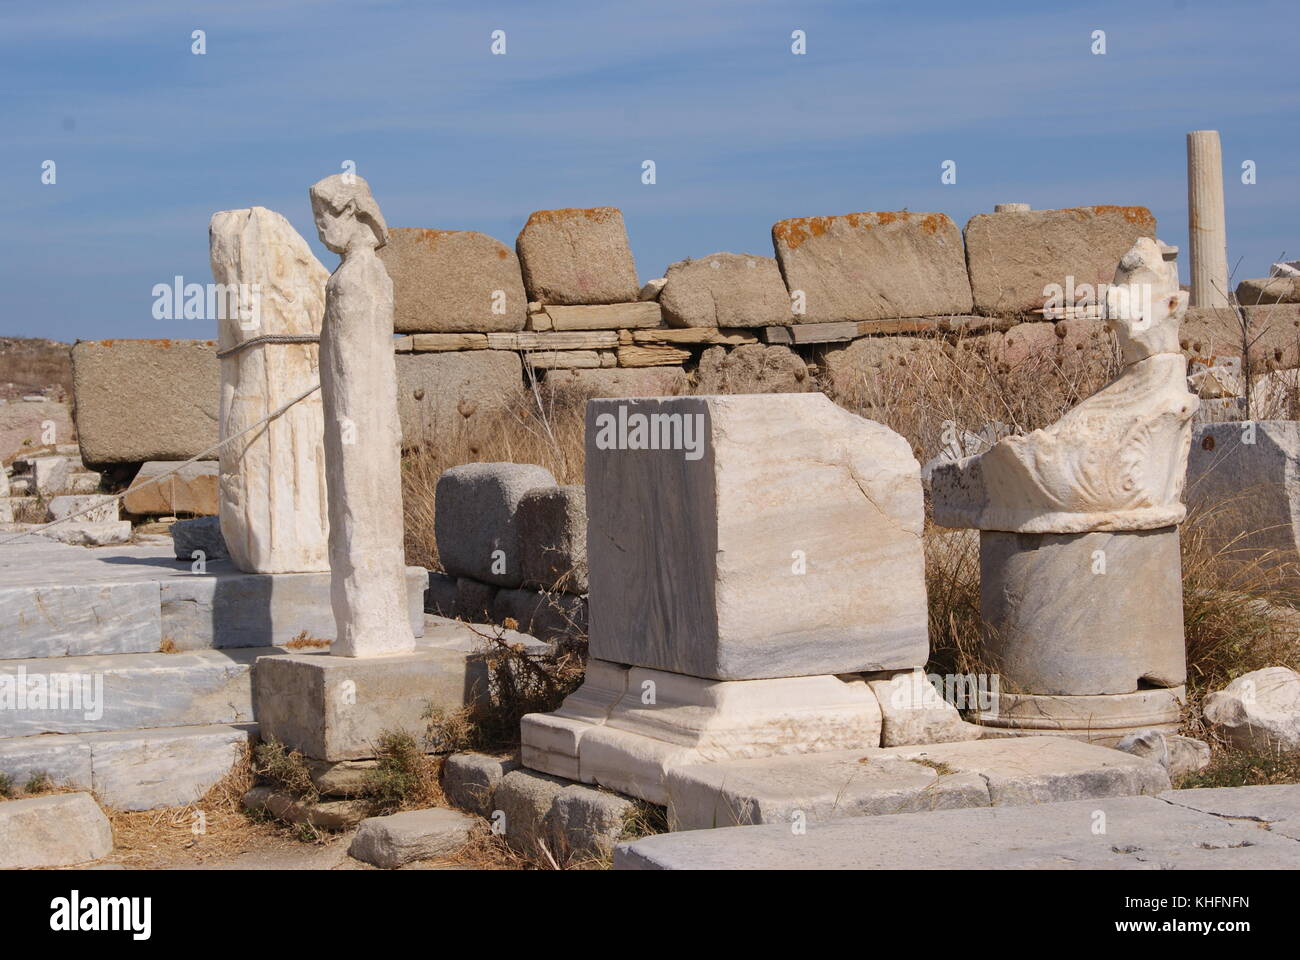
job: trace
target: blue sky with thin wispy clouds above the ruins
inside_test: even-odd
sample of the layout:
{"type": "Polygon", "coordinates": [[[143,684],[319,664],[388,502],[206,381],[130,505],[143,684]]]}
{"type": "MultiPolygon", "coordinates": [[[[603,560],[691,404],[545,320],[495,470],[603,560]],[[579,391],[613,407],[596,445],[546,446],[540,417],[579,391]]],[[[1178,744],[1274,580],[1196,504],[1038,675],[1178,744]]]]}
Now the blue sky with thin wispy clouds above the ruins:
{"type": "Polygon", "coordinates": [[[346,160],[393,226],[621,207],[649,280],[770,256],[783,217],[1010,200],[1145,204],[1186,260],[1184,135],[1217,129],[1262,276],[1300,256],[1297,40],[1294,3],[0,0],[0,336],[213,336],[153,285],[209,281],[208,219],[255,204],[333,269],[307,189],[346,160]]]}

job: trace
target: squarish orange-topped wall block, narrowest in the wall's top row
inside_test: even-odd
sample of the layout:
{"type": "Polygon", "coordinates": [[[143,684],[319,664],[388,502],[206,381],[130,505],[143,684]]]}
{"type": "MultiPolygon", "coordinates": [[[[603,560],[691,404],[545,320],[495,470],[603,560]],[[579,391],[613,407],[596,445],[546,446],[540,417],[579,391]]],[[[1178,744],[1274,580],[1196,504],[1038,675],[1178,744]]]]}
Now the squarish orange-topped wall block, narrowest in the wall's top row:
{"type": "Polygon", "coordinates": [[[515,241],[529,300],[624,303],[641,291],[623,212],[540,209],[515,241]]]}

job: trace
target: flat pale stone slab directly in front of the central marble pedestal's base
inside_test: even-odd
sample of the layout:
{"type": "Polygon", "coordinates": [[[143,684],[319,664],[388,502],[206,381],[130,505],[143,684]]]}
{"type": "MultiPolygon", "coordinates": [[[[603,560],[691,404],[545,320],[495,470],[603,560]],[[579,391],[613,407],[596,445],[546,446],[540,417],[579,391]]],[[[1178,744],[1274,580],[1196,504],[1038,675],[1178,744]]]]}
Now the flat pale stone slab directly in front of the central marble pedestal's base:
{"type": "Polygon", "coordinates": [[[671,769],[667,780],[673,830],[989,805],[978,774],[940,775],[923,764],[867,751],[696,764],[671,769]]]}

